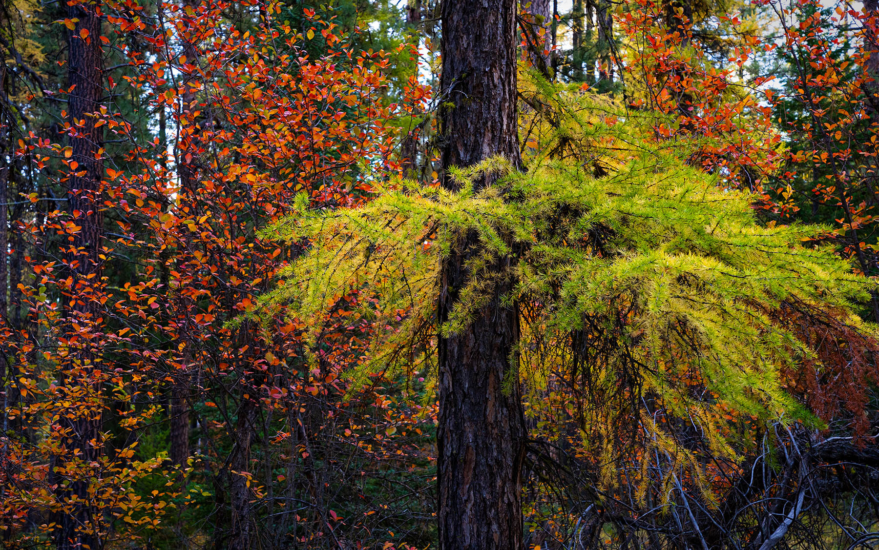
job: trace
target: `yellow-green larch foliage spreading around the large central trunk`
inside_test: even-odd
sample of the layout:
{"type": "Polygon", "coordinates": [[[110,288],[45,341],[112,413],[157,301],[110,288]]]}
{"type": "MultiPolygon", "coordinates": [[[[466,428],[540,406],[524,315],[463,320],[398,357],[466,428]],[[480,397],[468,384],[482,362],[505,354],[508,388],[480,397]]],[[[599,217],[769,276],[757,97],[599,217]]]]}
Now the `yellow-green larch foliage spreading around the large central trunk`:
{"type": "Polygon", "coordinates": [[[688,166],[695,140],[651,143],[650,125],[607,100],[532,84],[542,137],[529,142],[524,170],[493,158],[457,170],[458,192],[393,180],[351,209],[315,209],[303,197],[266,235],[309,249],[262,305],[288,306],[314,351],[338,302],[359,293],[357,315],[384,327],[352,372],[363,382],[425,370],[438,331],[461,330],[491,287],[512,278],[505,300],[522,328],[519,379],[507,382],[537,388],[549,368],[570,373],[583,425],[606,427],[604,437],[584,432],[584,445],[611,457],[627,431],[640,431],[696,479],[701,462],[675,425],[691,424],[713,456],[734,459],[747,441],[731,435],[730,410],[752,428],[819,424],[782,387],[781,372],[820,361],[791,312],[832,319],[850,345],[869,348],[875,327],[858,311],[875,282],[811,245],[826,228],[763,224],[755,195],[688,166]],[[503,177],[475,192],[471,182],[490,170],[503,177]],[[480,249],[457,308],[436,326],[439,258],[466,234],[479,235],[480,249]],[[492,271],[498,264],[508,267],[492,271]]]}

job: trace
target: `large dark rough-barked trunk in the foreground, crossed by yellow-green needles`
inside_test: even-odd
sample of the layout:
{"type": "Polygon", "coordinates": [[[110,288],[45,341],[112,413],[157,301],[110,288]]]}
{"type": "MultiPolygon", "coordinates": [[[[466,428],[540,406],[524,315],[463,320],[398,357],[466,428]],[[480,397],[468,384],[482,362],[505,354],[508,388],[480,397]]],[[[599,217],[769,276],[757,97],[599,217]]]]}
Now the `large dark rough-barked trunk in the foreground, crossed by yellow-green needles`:
{"type": "MultiPolygon", "coordinates": [[[[515,0],[447,0],[442,4],[442,75],[446,105],[440,113],[442,184],[454,189],[452,166],[503,155],[519,164],[516,114],[515,0]]],[[[483,176],[476,188],[494,183],[483,176]]],[[[464,235],[443,260],[439,319],[454,308],[468,278],[465,267],[477,235],[464,235]]],[[[505,269],[512,260],[500,258],[505,269]]],[[[439,548],[520,550],[521,464],[525,422],[511,365],[519,325],[498,283],[467,329],[439,340],[439,548]]]]}

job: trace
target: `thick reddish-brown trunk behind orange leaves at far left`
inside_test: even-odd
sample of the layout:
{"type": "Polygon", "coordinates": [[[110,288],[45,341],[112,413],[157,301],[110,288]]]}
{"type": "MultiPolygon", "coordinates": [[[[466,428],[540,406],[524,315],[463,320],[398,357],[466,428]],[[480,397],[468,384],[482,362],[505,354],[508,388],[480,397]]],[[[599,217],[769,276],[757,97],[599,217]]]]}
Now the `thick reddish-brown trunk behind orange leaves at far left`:
{"type": "MultiPolygon", "coordinates": [[[[104,146],[104,129],[97,126],[99,111],[104,99],[103,55],[101,51],[101,21],[92,6],[69,5],[68,17],[76,22],[76,27],[67,33],[69,59],[68,84],[72,90],[68,98],[68,114],[71,125],[70,147],[73,149],[71,161],[78,163],[76,176],[69,178],[68,204],[70,213],[77,216],[76,224],[81,227],[74,235],[71,252],[70,271],[73,279],[72,295],[67,313],[69,322],[90,322],[98,315],[95,303],[82,294],[84,287],[98,280],[102,260],[98,257],[104,233],[104,214],[100,210],[100,181],[104,175],[104,161],[100,148],[104,146]],[[83,33],[87,31],[88,33],[83,33]]],[[[70,328],[70,330],[73,330],[70,328]]],[[[80,361],[86,368],[93,366],[94,356],[89,351],[76,354],[72,360],[80,361]]],[[[67,365],[70,368],[71,365],[67,365]]],[[[63,382],[63,380],[62,380],[63,382]]],[[[62,419],[65,428],[70,429],[67,448],[82,450],[82,459],[96,460],[97,450],[91,441],[98,438],[100,420],[88,416],[75,419],[62,419]]],[[[88,481],[72,479],[67,488],[59,488],[59,497],[69,500],[77,496],[88,501],[88,481]]],[[[100,540],[94,533],[85,533],[90,523],[90,511],[81,503],[72,504],[69,511],[62,511],[56,519],[59,528],[55,532],[55,544],[61,550],[83,547],[100,548],[100,540]]]]}

